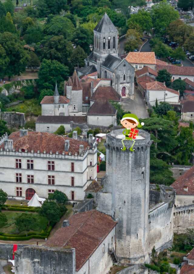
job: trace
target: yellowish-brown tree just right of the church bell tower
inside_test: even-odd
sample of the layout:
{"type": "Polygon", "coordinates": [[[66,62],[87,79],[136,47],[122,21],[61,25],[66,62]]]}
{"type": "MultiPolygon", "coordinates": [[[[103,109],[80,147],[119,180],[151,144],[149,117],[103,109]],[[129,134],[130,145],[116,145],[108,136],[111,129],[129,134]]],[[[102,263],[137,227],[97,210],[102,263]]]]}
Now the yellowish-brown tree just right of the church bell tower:
{"type": "Polygon", "coordinates": [[[135,29],[128,29],[126,34],[125,51],[133,51],[141,44],[141,35],[135,29]]]}

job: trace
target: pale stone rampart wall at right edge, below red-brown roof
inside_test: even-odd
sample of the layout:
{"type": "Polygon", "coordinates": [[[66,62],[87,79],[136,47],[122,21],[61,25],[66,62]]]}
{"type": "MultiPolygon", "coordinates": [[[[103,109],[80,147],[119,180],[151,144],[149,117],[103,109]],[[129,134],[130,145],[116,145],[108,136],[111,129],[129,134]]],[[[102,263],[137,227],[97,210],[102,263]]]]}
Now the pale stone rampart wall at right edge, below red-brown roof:
{"type": "Polygon", "coordinates": [[[186,233],[187,228],[194,227],[194,204],[174,208],[173,229],[177,234],[186,233]]]}

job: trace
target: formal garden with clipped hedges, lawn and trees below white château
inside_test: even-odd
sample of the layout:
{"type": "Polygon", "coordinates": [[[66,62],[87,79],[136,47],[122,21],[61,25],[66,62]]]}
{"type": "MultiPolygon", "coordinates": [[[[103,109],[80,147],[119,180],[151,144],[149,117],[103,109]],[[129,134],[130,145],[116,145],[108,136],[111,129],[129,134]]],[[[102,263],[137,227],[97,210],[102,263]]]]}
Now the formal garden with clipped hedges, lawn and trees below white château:
{"type": "Polygon", "coordinates": [[[45,239],[60,218],[72,212],[67,196],[58,190],[49,194],[42,207],[17,202],[7,200],[7,193],[0,190],[0,240],[45,239]]]}

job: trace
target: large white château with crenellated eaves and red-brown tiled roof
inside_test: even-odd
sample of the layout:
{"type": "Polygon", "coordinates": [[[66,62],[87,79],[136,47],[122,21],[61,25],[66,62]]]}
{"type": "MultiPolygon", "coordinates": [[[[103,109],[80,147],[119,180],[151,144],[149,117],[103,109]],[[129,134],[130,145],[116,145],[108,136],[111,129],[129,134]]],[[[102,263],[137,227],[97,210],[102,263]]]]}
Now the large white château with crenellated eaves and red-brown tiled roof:
{"type": "Polygon", "coordinates": [[[9,198],[47,198],[55,190],[69,200],[83,200],[97,177],[97,148],[86,141],[44,132],[20,130],[0,138],[0,182],[9,198]]]}

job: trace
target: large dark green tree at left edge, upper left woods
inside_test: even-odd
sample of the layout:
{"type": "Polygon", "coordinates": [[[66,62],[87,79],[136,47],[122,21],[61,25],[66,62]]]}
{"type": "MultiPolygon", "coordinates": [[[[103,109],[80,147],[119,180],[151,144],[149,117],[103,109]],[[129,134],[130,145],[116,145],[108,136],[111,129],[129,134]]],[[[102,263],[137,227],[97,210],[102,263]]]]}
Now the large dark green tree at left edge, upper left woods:
{"type": "Polygon", "coordinates": [[[29,56],[18,37],[10,32],[4,32],[0,35],[0,45],[2,45],[6,56],[9,58],[5,70],[5,74],[8,75],[9,79],[13,75],[20,75],[20,72],[24,72],[29,56]]]}

